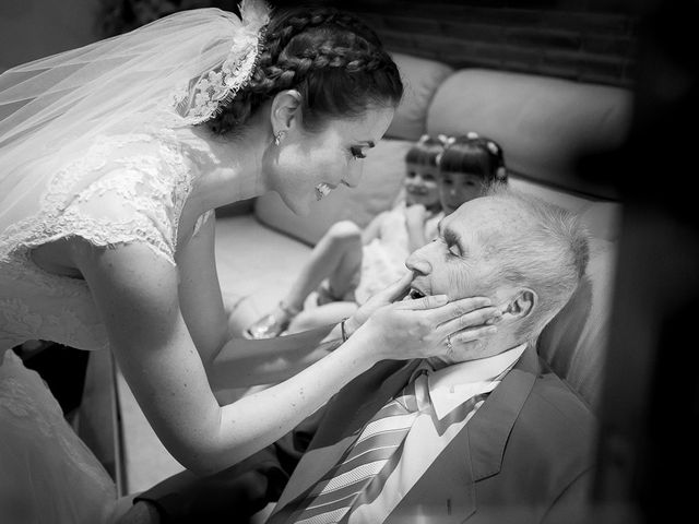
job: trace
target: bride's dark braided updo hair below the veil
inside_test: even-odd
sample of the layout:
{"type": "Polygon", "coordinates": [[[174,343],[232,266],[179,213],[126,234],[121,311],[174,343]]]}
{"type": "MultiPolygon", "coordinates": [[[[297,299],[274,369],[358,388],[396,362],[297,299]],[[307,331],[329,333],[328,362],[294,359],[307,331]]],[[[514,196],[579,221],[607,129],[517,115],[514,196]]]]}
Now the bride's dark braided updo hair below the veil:
{"type": "Polygon", "coordinates": [[[329,118],[352,118],[372,107],[395,107],[403,96],[398,68],[376,33],[330,8],[274,13],[251,79],[209,121],[218,134],[240,129],[264,102],[284,90],[301,95],[309,131],[329,118]]]}

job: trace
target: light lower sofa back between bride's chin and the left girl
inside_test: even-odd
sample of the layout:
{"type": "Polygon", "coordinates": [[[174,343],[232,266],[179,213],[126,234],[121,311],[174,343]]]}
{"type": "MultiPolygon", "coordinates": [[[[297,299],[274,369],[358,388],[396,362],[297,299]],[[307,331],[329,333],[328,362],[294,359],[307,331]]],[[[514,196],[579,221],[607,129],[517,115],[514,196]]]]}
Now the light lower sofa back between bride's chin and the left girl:
{"type": "Polygon", "coordinates": [[[413,145],[405,140],[380,140],[367,152],[357,188],[339,187],[311,206],[308,216],[295,215],[276,193],[259,196],[257,218],[277,231],[310,246],[316,245],[337,221],[351,219],[365,227],[380,212],[392,207],[405,178],[405,154],[413,145]]]}

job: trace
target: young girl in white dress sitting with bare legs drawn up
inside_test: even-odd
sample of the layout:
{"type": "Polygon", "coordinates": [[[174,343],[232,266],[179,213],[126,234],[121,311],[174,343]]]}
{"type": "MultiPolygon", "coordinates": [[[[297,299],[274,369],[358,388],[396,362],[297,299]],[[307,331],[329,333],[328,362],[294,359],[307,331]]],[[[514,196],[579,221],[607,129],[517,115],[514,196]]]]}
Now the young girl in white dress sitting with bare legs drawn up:
{"type": "Polygon", "coordinates": [[[250,325],[246,336],[270,338],[287,330],[341,321],[399,278],[405,272],[405,258],[436,235],[442,216],[437,184],[437,158],[441,152],[440,139],[423,135],[405,155],[404,196],[364,230],[351,221],[333,224],[313,248],[286,297],[250,325]],[[313,290],[321,307],[299,315],[313,290]]]}

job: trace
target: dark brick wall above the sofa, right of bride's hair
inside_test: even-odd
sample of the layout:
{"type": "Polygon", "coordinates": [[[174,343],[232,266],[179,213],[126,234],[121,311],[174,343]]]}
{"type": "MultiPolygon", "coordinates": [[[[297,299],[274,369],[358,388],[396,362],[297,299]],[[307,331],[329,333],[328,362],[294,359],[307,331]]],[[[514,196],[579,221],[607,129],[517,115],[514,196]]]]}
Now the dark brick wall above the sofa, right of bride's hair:
{"type": "MultiPolygon", "coordinates": [[[[279,0],[277,7],[297,2],[279,0]]],[[[387,48],[482,67],[631,87],[637,15],[612,0],[327,0],[353,11],[387,48]]]]}

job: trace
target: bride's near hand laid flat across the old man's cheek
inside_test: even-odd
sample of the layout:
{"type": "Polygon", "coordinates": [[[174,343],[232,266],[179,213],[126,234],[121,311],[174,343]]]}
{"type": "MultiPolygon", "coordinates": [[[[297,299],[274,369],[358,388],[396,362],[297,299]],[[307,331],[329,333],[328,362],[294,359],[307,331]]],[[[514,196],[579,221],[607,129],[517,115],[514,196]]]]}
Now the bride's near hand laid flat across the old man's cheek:
{"type": "Polygon", "coordinates": [[[378,358],[405,360],[453,358],[497,331],[500,312],[488,298],[447,300],[439,295],[379,306],[353,336],[369,343],[378,358]]]}

